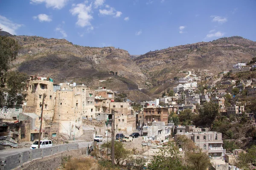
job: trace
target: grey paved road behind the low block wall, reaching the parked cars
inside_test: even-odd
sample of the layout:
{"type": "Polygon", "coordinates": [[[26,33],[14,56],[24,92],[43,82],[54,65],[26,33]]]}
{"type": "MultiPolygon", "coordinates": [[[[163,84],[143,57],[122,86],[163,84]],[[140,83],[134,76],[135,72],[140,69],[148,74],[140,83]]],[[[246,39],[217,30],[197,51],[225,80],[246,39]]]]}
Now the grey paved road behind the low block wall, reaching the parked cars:
{"type": "MultiPolygon", "coordinates": [[[[70,142],[71,143],[71,142],[70,142]]],[[[76,143],[76,141],[72,141],[72,143],[76,143]]],[[[87,147],[88,144],[92,144],[93,142],[77,142],[79,144],[79,148],[82,148],[82,147],[87,147]]],[[[99,142],[100,144],[102,142],[99,142]]],[[[4,149],[4,150],[0,150],[0,158],[4,158],[6,156],[11,156],[11,155],[15,155],[17,153],[21,153],[21,152],[24,152],[24,151],[27,151],[29,150],[30,148],[29,147],[26,147],[26,148],[18,148],[18,149],[4,149]]]]}

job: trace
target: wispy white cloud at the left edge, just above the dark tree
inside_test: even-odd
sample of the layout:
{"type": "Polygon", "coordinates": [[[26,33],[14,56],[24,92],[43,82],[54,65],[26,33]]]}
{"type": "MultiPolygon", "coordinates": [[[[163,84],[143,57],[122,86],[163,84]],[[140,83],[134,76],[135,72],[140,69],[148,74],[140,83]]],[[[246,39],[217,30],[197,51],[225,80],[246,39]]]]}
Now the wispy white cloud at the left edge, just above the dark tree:
{"type": "Polygon", "coordinates": [[[10,34],[16,34],[16,30],[23,26],[22,24],[13,23],[8,20],[6,17],[0,15],[0,27],[3,31],[9,32],[10,34]]]}

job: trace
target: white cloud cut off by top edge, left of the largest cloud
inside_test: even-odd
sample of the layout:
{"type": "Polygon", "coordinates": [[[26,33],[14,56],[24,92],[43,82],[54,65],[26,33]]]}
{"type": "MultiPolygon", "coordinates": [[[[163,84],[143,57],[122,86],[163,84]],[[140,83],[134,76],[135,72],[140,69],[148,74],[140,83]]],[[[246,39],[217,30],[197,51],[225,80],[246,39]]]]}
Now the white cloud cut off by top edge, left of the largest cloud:
{"type": "Polygon", "coordinates": [[[30,0],[30,3],[46,3],[47,8],[61,9],[67,4],[68,0],[30,0]]]}

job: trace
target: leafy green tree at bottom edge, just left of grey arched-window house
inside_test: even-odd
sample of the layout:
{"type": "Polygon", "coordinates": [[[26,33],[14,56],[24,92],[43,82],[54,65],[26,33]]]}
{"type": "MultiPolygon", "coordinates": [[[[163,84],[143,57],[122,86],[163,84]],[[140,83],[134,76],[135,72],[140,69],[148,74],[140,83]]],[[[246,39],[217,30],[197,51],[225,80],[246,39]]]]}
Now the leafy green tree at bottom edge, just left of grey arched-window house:
{"type": "Polygon", "coordinates": [[[183,165],[178,148],[173,142],[160,149],[153,156],[153,160],[148,164],[150,170],[187,170],[183,165]]]}

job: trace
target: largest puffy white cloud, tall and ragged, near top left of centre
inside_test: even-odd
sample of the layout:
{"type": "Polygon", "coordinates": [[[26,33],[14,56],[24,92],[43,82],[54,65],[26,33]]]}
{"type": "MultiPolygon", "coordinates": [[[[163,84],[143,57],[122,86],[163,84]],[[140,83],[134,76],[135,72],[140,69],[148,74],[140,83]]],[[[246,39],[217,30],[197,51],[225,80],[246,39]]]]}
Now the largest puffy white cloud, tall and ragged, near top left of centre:
{"type": "Polygon", "coordinates": [[[93,16],[90,14],[92,12],[92,3],[89,6],[86,6],[88,1],[85,3],[73,4],[70,9],[72,15],[77,15],[76,25],[80,27],[91,26],[90,20],[93,19],[93,16]]]}

